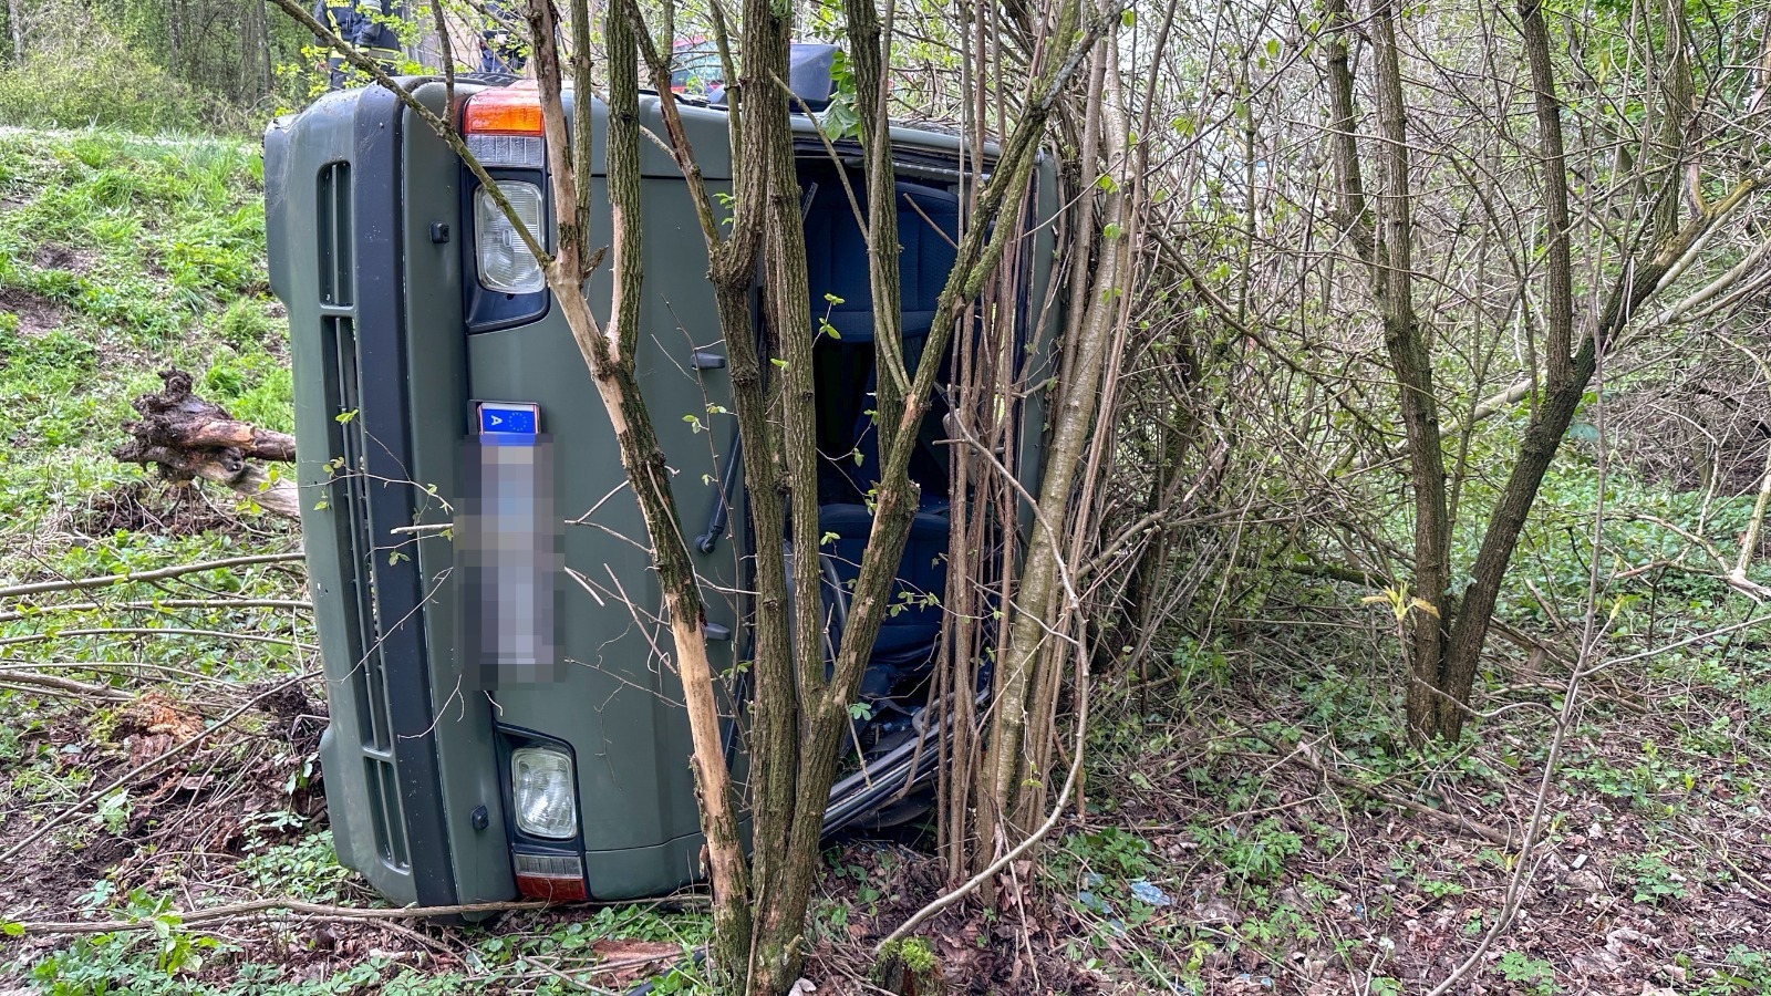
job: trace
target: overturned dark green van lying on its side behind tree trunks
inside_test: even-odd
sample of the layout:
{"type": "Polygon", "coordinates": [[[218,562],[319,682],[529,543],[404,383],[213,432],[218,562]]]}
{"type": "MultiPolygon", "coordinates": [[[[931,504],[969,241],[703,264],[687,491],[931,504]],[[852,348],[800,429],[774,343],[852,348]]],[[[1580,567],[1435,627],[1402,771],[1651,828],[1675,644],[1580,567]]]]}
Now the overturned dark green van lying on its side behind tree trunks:
{"type": "MultiPolygon", "coordinates": [[[[809,69],[795,71],[793,89],[822,106],[827,53],[822,80],[820,53],[799,55],[809,69]]],[[[457,122],[476,101],[482,112],[533,101],[473,76],[457,78],[453,101],[441,80],[404,83],[457,122]]],[[[662,135],[659,99],[643,97],[641,122],[662,135]]],[[[682,101],[703,174],[721,188],[726,110],[662,99],[682,101]]],[[[600,170],[600,103],[593,121],[600,170]]],[[[866,255],[841,184],[847,172],[859,190],[861,156],[838,144],[832,161],[806,115],[795,115],[795,135],[813,314],[838,331],[816,347],[820,525],[832,537],[831,590],[816,597],[839,601],[877,473],[866,255]]],[[[505,126],[468,128],[466,140],[533,229],[551,232],[558,206],[542,138],[505,126]]],[[[939,131],[894,128],[893,142],[903,326],[916,354],[953,266],[969,184],[990,161],[971,161],[939,131]]],[[[733,665],[749,643],[749,564],[783,553],[749,549],[733,422],[708,415],[730,408],[730,381],[684,179],[650,142],[641,172],[641,390],[692,537],[714,666],[742,672],[733,665]]],[[[592,225],[606,232],[600,183],[592,225]]],[[[1056,324],[1040,319],[1057,211],[1048,161],[1032,183],[1015,362],[1027,383],[1041,383],[1056,324]]],[[[682,693],[661,656],[669,631],[634,608],[659,604],[646,548],[634,541],[643,523],[565,319],[487,202],[450,147],[381,87],[328,94],[266,135],[271,285],[289,310],[301,525],[331,712],[321,759],[333,840],[345,865],[400,904],[668,893],[700,877],[701,838],[682,693]],[[483,549],[464,553],[475,516],[501,525],[478,530],[483,549]],[[528,532],[508,535],[522,521],[515,532],[528,532]],[[483,658],[510,647],[549,666],[482,681],[483,658]]],[[[606,268],[586,294],[606,315],[606,268]]],[[[949,363],[967,347],[962,333],[947,356],[921,362],[949,363]]],[[[1038,393],[1015,404],[1018,473],[1031,486],[1043,409],[1038,393]]],[[[914,817],[907,789],[933,774],[940,753],[926,743],[939,723],[924,721],[924,704],[942,629],[946,521],[969,498],[949,493],[944,411],[930,413],[912,461],[924,503],[898,580],[932,597],[907,599],[912,608],[875,643],[862,688],[870,718],[852,744],[866,766],[832,789],[832,833],[914,817]]],[[[742,782],[742,689],[733,702],[728,757],[742,782]]]]}

